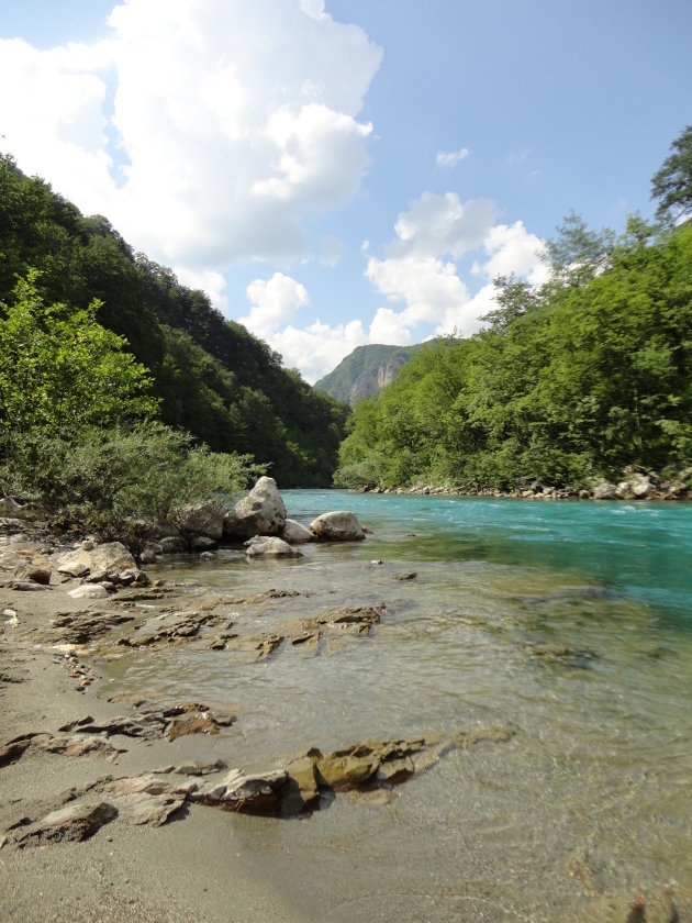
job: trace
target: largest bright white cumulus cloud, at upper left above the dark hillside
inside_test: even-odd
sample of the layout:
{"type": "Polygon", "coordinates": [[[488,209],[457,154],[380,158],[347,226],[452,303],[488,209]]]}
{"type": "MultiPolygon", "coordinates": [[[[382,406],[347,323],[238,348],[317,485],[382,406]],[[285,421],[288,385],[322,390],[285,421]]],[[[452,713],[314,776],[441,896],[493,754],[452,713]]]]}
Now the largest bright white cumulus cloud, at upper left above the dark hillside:
{"type": "Polygon", "coordinates": [[[304,256],[305,218],[367,168],[381,49],[322,0],[129,0],[109,25],[93,46],[0,42],[20,166],[180,275],[304,256]]]}

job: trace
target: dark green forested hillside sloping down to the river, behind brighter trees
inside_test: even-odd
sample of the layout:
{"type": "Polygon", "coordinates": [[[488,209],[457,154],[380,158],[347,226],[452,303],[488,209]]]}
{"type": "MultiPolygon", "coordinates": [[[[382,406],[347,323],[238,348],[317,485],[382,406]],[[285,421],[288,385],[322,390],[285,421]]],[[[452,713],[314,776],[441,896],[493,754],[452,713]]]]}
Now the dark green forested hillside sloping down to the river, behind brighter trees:
{"type": "Polygon", "coordinates": [[[150,371],[159,416],[214,452],[252,454],[283,487],[325,486],[348,409],[314,392],[201,291],[132,248],[99,215],[85,216],[0,157],[0,301],[38,270],[46,303],[103,302],[98,321],[124,336],[150,371]]]}

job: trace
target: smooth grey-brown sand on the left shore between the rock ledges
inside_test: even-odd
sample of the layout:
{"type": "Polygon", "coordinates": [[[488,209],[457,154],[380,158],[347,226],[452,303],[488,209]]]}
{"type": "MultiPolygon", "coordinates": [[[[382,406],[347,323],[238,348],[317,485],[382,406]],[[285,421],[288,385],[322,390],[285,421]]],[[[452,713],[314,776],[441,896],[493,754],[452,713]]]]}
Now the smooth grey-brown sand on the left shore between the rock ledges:
{"type": "MultiPolygon", "coordinates": [[[[0,589],[0,613],[16,613],[15,624],[11,616],[0,619],[0,746],[30,733],[56,734],[85,714],[102,721],[123,713],[122,704],[99,698],[98,678],[78,691],[82,682],[69,675],[66,655],[32,641],[32,632],[55,613],[93,607],[89,600],[69,599],[68,588],[0,589]]],[[[69,789],[107,775],[134,776],[166,766],[178,754],[185,758],[185,739],[112,741],[126,748],[115,765],[97,755],[70,757],[32,746],[0,766],[2,921],[310,919],[286,905],[260,857],[238,852],[227,814],[197,804],[186,804],[180,816],[164,826],[132,826],[118,818],[85,842],[19,848],[13,833],[4,833],[8,827],[23,818],[45,815],[69,789]]]]}

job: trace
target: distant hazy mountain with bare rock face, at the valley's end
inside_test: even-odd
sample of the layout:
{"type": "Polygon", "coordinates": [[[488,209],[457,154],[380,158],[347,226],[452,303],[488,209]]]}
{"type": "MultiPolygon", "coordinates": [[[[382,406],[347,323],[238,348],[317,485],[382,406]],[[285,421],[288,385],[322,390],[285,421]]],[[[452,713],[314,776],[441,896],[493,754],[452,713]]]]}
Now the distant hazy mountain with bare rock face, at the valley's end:
{"type": "Polygon", "coordinates": [[[362,398],[375,394],[394,378],[421,344],[415,346],[382,346],[370,344],[357,346],[353,353],[314,383],[317,391],[324,391],[337,401],[351,407],[362,398]]]}

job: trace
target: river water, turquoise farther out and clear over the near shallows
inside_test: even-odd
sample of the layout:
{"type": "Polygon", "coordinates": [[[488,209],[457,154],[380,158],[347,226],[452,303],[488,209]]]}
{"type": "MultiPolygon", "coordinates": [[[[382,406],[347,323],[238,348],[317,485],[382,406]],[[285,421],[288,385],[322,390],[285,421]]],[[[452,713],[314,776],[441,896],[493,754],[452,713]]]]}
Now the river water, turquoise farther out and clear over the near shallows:
{"type": "Polygon", "coordinates": [[[238,598],[300,591],[239,607],[256,633],[383,602],[370,636],[284,644],[260,663],[201,644],[129,654],[104,666],[108,691],[232,704],[227,733],[186,745],[246,769],[310,746],[517,733],[448,754],[388,803],[339,796],[295,821],[232,816],[220,848],[256,855],[306,921],[624,920],[636,888],[671,881],[692,913],[692,507],[284,500],[303,522],[351,509],[372,534],[297,561],[224,552],[149,571],[238,598]]]}

